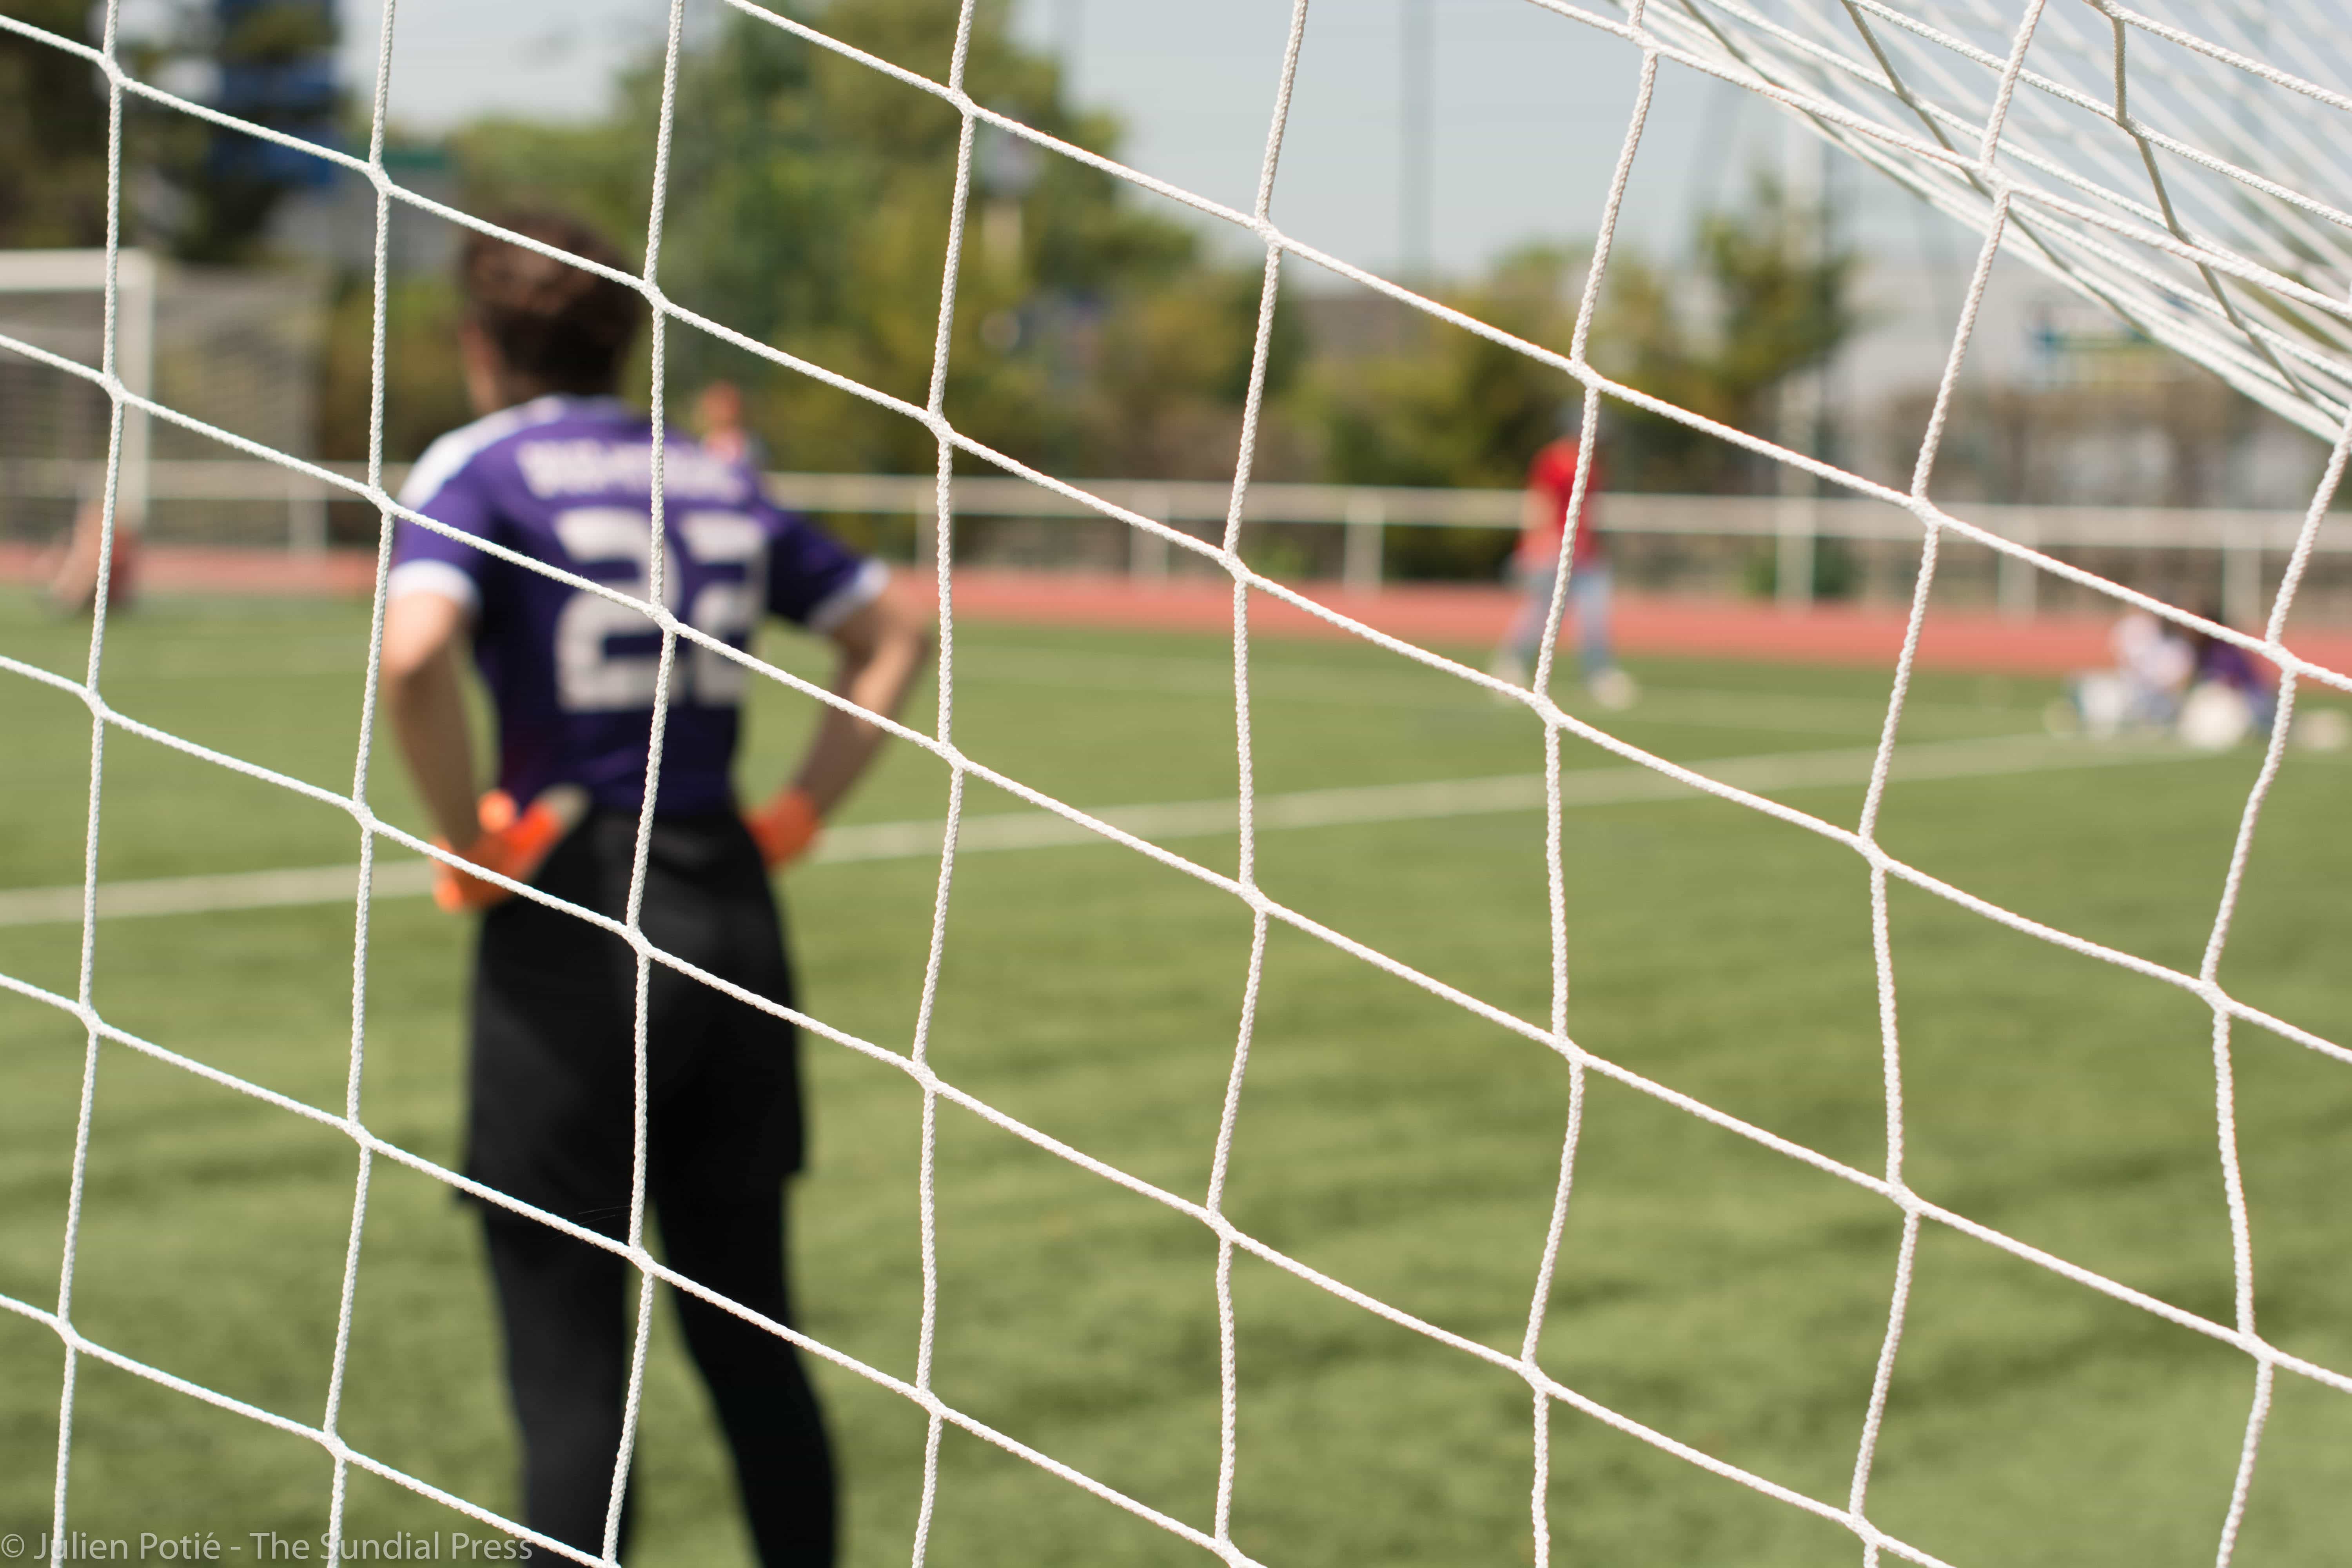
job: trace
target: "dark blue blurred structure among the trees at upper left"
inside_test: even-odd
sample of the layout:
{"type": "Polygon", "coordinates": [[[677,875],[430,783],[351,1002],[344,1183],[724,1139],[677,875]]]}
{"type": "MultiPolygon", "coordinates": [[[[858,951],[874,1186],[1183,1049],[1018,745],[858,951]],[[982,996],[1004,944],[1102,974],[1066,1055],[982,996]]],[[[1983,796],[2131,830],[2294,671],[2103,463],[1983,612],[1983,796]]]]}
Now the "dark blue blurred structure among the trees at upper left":
{"type": "MultiPolygon", "coordinates": [[[[270,129],[336,146],[334,0],[212,0],[221,85],[214,106],[270,129]]],[[[275,141],[216,129],[205,172],[247,190],[315,190],[334,165],[275,141]]]]}

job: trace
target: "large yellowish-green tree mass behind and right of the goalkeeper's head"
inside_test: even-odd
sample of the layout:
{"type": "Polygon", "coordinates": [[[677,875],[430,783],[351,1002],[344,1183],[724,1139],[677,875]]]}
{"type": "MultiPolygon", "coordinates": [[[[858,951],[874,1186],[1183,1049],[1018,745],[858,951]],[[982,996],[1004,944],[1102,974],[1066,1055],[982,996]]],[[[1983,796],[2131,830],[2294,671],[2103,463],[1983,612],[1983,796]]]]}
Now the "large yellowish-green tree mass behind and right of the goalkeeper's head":
{"type": "MultiPolygon", "coordinates": [[[[830,0],[828,33],[946,75],[953,0],[830,0]]],[[[1063,101],[1058,68],[983,5],[964,68],[990,108],[1110,153],[1117,122],[1063,101]]],[[[586,127],[482,122],[454,141],[468,205],[550,200],[630,244],[647,233],[661,61],[586,127]]],[[[960,115],[946,101],[739,14],[680,59],[661,287],[743,336],[891,397],[929,397],[960,115]]],[[[1192,230],[1108,174],[981,129],[946,407],[960,430],[1063,470],[1214,473],[1230,463],[1256,327],[1256,270],[1202,261],[1192,230]],[[997,143],[997,146],[990,146],[997,143]],[[1011,143],[1011,146],[1007,146],[1011,143]],[[1004,167],[990,188],[990,172],[1004,167]],[[1025,188],[1016,188],[1025,181],[1025,188]]],[[[1298,357],[1282,322],[1277,364],[1298,357]]],[[[786,468],[922,470],[917,421],[748,357],[668,336],[673,409],[710,376],[746,383],[786,468]]]]}

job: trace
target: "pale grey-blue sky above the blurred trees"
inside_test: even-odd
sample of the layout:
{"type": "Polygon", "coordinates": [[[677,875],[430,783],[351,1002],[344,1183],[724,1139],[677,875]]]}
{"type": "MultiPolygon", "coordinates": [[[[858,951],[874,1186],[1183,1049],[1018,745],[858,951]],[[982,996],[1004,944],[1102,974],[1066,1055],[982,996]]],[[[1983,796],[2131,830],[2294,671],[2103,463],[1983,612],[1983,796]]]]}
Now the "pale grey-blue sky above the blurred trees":
{"type": "MultiPolygon", "coordinates": [[[[1308,12],[1275,221],[1374,270],[1399,235],[1404,7],[1425,5],[1435,136],[1437,268],[1470,273],[1529,240],[1583,240],[1599,223],[1635,101],[1639,56],[1526,0],[1317,0],[1308,12]]],[[[691,0],[689,16],[713,14],[691,0]]],[[[485,113],[586,118],[619,66],[659,47],[666,0],[400,0],[393,120],[442,129],[485,113]]],[[[374,78],[381,0],[346,0],[346,78],[374,78]]],[[[1282,66],[1279,0],[1016,0],[1035,47],[1068,52],[1077,101],[1127,125],[1134,167],[1251,205],[1282,66]]],[[[1672,249],[1750,162],[1783,158],[1757,101],[1663,66],[1635,162],[1625,233],[1672,249]]],[[[1240,249],[1247,233],[1230,230],[1240,249]]]]}

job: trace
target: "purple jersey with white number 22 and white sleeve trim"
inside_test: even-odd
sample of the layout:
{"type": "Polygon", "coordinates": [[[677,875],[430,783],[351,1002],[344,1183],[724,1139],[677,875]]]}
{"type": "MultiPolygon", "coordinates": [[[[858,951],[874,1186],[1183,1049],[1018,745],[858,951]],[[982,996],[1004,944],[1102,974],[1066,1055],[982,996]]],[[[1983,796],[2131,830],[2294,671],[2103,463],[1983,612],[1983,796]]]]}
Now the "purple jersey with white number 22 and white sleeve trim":
{"type": "MultiPolygon", "coordinates": [[[[539,397],[433,442],[400,503],[644,599],[652,442],[652,421],[616,397],[539,397]]],[[[750,468],[675,430],[663,440],[661,491],[663,602],[729,646],[750,646],[762,611],[826,632],[882,592],[880,562],[779,510],[750,468]]],[[[473,658],[499,710],[501,790],[529,802],[579,783],[597,806],[642,804],[661,658],[649,616],[407,520],[393,536],[388,592],[437,592],[473,611],[473,658]]],[[[659,811],[734,802],[746,679],[743,665],[680,639],[659,811]]]]}

